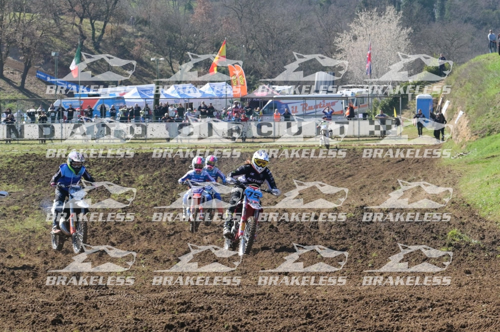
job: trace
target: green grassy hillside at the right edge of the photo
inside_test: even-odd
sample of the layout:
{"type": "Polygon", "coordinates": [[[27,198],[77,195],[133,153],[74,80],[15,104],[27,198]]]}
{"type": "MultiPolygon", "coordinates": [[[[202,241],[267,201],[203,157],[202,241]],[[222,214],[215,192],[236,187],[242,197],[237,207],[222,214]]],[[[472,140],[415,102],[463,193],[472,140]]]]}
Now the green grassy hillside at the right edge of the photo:
{"type": "MultiPolygon", "coordinates": [[[[448,123],[454,123],[459,111],[468,120],[468,129],[476,139],[453,137],[448,143],[456,158],[444,161],[460,171],[460,191],[466,199],[490,220],[500,220],[500,56],[483,54],[460,67],[453,68],[445,80],[450,100],[446,111],[448,123]]],[[[458,131],[455,131],[455,134],[458,131]]],[[[462,132],[460,132],[461,135],[462,132]]]]}

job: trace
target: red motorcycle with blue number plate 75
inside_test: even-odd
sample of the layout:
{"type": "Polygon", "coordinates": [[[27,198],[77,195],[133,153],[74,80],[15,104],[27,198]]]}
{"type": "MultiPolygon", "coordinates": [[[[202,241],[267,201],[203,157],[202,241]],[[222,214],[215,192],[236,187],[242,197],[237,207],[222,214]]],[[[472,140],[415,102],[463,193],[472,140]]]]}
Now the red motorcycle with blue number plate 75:
{"type": "MultiPolygon", "coordinates": [[[[244,186],[242,199],[236,203],[234,215],[240,215],[239,219],[233,220],[232,238],[224,238],[224,249],[235,250],[238,248],[238,255],[249,254],[253,242],[257,238],[258,216],[262,212],[260,198],[262,192],[272,193],[270,189],[260,189],[253,184],[246,184],[236,181],[236,186],[244,186]]],[[[235,218],[234,218],[235,219],[235,218]]]]}

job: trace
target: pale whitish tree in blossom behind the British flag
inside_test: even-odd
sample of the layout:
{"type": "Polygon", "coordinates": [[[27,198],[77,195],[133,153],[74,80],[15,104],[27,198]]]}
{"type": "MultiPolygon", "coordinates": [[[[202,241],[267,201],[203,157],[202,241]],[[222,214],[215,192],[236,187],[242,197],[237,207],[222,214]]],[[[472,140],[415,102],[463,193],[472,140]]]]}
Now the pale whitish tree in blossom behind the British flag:
{"type": "Polygon", "coordinates": [[[397,52],[411,50],[411,30],[402,27],[401,19],[401,14],[390,6],[383,13],[361,11],[348,25],[348,30],[335,38],[340,58],[349,61],[346,75],[351,83],[363,83],[368,78],[365,69],[370,40],[372,77],[381,76],[391,64],[398,62],[397,52]]]}

